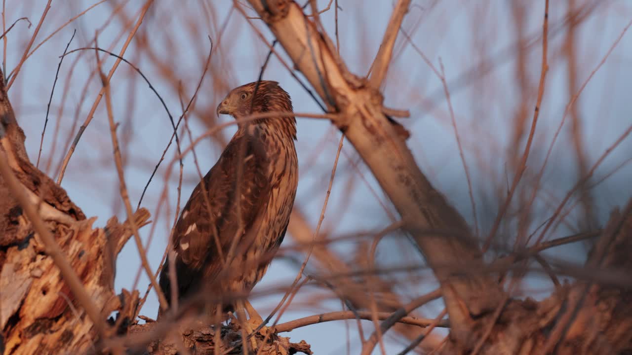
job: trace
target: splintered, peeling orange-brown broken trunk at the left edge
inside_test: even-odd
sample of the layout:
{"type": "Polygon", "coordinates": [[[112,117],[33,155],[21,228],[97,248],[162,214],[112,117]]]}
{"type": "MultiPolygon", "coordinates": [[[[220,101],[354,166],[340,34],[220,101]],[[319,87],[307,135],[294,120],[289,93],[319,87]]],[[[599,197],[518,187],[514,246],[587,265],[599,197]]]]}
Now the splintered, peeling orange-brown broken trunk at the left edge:
{"type": "MultiPolygon", "coordinates": [[[[128,318],[119,324],[130,323],[138,292],[116,295],[113,290],[116,256],[131,236],[128,223],[112,218],[105,228],[92,227],[96,217],[86,219],[66,191],[31,164],[24,140],[2,82],[0,149],[20,188],[39,208],[40,218],[103,315],[103,322],[119,311],[119,319],[128,318]]],[[[94,346],[93,323],[47,255],[14,192],[0,176],[0,353],[88,351],[94,346]]],[[[149,212],[138,210],[135,219],[138,225],[145,224],[149,212]]]]}

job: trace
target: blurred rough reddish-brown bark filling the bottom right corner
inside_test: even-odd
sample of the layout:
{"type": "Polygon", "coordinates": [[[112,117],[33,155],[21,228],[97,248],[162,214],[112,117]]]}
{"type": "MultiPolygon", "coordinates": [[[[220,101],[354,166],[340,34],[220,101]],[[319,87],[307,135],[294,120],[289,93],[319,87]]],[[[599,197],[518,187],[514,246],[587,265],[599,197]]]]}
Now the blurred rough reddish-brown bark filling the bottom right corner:
{"type": "MultiPolygon", "coordinates": [[[[632,353],[632,201],[615,211],[590,250],[581,279],[543,301],[509,299],[479,354],[632,353]]],[[[558,265],[568,268],[568,265],[558,265]]],[[[575,274],[576,273],[576,274],[575,274]]],[[[483,324],[483,329],[490,326],[483,324]]],[[[473,329],[475,334],[482,330],[473,329]]],[[[468,354],[475,342],[448,342],[441,354],[468,354]]]]}

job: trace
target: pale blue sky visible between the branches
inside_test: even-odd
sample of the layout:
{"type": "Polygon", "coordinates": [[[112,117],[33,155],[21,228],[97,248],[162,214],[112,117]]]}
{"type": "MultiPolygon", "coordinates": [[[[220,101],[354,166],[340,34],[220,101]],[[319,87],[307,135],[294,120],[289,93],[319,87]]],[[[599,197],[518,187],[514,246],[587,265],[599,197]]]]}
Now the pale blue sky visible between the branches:
{"type": "MultiPolygon", "coordinates": [[[[205,56],[209,49],[210,35],[217,45],[217,32],[229,13],[229,1],[212,1],[216,6],[212,14],[207,12],[208,6],[202,6],[201,1],[182,1],[176,8],[173,2],[157,0],[145,18],[141,31],[149,33],[150,45],[167,63],[175,63],[171,67],[173,75],[182,81],[186,95],[191,95],[198,78],[202,72],[205,56]],[[210,18],[210,20],[207,20],[210,18]],[[195,28],[195,30],[191,30],[195,28]],[[204,32],[202,31],[204,30],[204,32]],[[193,32],[191,32],[193,31],[193,32]],[[171,41],[171,44],[167,42],[171,41]]],[[[318,1],[322,8],[327,1],[318,1]]],[[[339,12],[339,33],[341,44],[341,56],[348,64],[349,69],[357,75],[364,75],[379,46],[381,35],[384,32],[388,15],[391,13],[392,1],[339,1],[343,11],[339,12]]],[[[508,131],[514,113],[520,104],[521,97],[516,83],[514,68],[516,56],[513,49],[515,44],[514,18],[509,4],[511,1],[413,1],[404,28],[413,33],[412,39],[416,47],[421,49],[432,64],[439,68],[439,58],[444,64],[447,83],[451,91],[451,101],[454,108],[456,123],[463,141],[465,158],[470,166],[473,176],[473,186],[477,193],[478,217],[483,231],[489,231],[490,220],[495,215],[495,189],[499,184],[504,184],[509,176],[513,178],[511,164],[507,164],[507,145],[509,145],[508,131]],[[417,28],[418,26],[418,28],[417,28]],[[482,61],[492,63],[492,71],[489,75],[481,75],[473,79],[463,79],[467,73],[480,74],[475,68],[482,61]],[[487,205],[483,203],[486,198],[487,205]],[[485,208],[487,207],[487,209],[485,208]]],[[[526,33],[535,40],[541,33],[542,13],[544,1],[525,1],[526,33]]],[[[532,158],[528,162],[528,174],[535,174],[540,169],[544,154],[549,147],[552,136],[564,116],[564,108],[568,103],[568,80],[566,76],[566,62],[561,56],[561,44],[564,39],[564,28],[560,28],[561,19],[565,15],[566,7],[560,3],[552,2],[550,11],[550,39],[549,39],[549,65],[550,71],[547,79],[545,97],[540,114],[540,122],[536,131],[536,140],[533,147],[532,158]]],[[[578,1],[578,3],[583,3],[578,1]]],[[[34,27],[39,21],[46,1],[25,0],[7,1],[6,21],[10,24],[16,18],[28,16],[33,23],[27,28],[24,21],[18,24],[9,33],[7,50],[7,69],[10,71],[18,63],[26,42],[30,39],[34,27]]],[[[47,35],[56,30],[69,18],[87,8],[92,1],[53,1],[49,15],[35,40],[38,44],[47,35]]],[[[207,2],[209,4],[209,2],[207,2]]],[[[125,6],[128,16],[137,16],[138,9],[142,6],[140,0],[130,0],[125,6]]],[[[100,29],[106,23],[112,12],[109,3],[100,4],[79,20],[74,21],[66,28],[52,37],[49,42],[28,59],[22,67],[20,75],[11,88],[9,95],[14,105],[16,116],[27,135],[27,150],[30,158],[37,160],[39,139],[44,124],[46,105],[51,93],[54,73],[58,66],[58,56],[71,37],[73,29],[77,30],[75,40],[70,49],[84,47],[94,38],[95,30],[100,29]]],[[[334,35],[333,10],[321,15],[323,24],[329,35],[334,35]]],[[[578,31],[578,81],[588,78],[588,75],[597,68],[609,48],[621,35],[628,21],[632,19],[627,1],[603,1],[593,15],[581,25],[578,31]]],[[[265,37],[272,40],[262,23],[253,20],[258,28],[262,29],[265,37]]],[[[110,47],[114,38],[121,32],[120,18],[104,27],[99,35],[99,45],[110,47]]],[[[214,105],[217,99],[223,97],[226,92],[214,92],[211,85],[213,75],[225,75],[231,87],[256,80],[258,71],[267,54],[266,47],[253,34],[252,29],[238,12],[234,12],[229,20],[227,32],[219,44],[219,51],[214,52],[212,66],[219,68],[224,66],[231,68],[229,71],[209,73],[200,91],[198,107],[208,107],[207,114],[214,114],[214,105]]],[[[127,32],[123,33],[123,38],[127,32]]],[[[335,41],[335,40],[334,40],[335,41]]],[[[121,40],[114,44],[113,51],[121,48],[121,40]]],[[[629,33],[624,35],[621,42],[612,52],[604,66],[595,74],[590,83],[581,93],[578,100],[579,112],[584,124],[584,138],[588,147],[589,164],[592,165],[604,150],[611,145],[624,129],[632,124],[630,117],[631,107],[629,93],[632,80],[631,72],[627,69],[630,56],[631,39],[629,33]]],[[[281,50],[281,47],[277,47],[281,50]]],[[[152,64],[143,51],[138,51],[138,43],[133,41],[125,54],[126,59],[133,61],[143,73],[150,78],[156,90],[166,100],[169,110],[174,118],[181,113],[179,102],[170,85],[164,77],[160,76],[157,68],[152,64]]],[[[458,148],[454,139],[453,129],[447,110],[447,104],[441,81],[425,64],[403,37],[399,38],[396,49],[397,56],[392,64],[384,96],[389,107],[398,109],[410,109],[411,117],[402,119],[412,136],[408,145],[415,154],[418,164],[428,175],[432,183],[455,203],[463,215],[472,222],[471,205],[468,199],[468,189],[465,183],[463,165],[459,157],[458,148]],[[421,104],[421,99],[432,102],[432,111],[428,111],[428,105],[421,104]]],[[[283,52],[283,51],[281,51],[283,52]]],[[[284,54],[283,54],[284,56],[284,54]]],[[[284,56],[287,60],[287,57],[284,56]]],[[[535,104],[537,80],[540,75],[540,42],[531,47],[528,56],[528,78],[532,90],[528,93],[527,107],[532,112],[535,104]]],[[[71,64],[76,59],[76,54],[68,56],[63,63],[59,74],[59,82],[54,93],[51,105],[51,114],[44,140],[44,152],[42,162],[45,164],[51,156],[51,144],[55,125],[60,123],[61,141],[66,140],[71,133],[76,106],[80,103],[83,87],[89,73],[95,66],[94,54],[83,54],[73,71],[70,81],[67,80],[71,64]],[[68,98],[64,102],[64,112],[58,116],[58,110],[62,102],[64,85],[68,84],[68,98]]],[[[105,71],[111,68],[112,59],[107,59],[105,71]]],[[[157,160],[170,135],[171,124],[147,85],[137,81],[136,85],[130,85],[130,76],[137,74],[130,71],[126,64],[122,63],[112,78],[114,116],[121,121],[119,139],[124,150],[130,151],[130,162],[126,167],[126,183],[130,189],[131,203],[135,206],[140,197],[142,187],[149,178],[149,173],[157,160]],[[134,100],[133,111],[128,110],[129,100],[134,100]],[[125,141],[125,131],[131,133],[129,141],[125,141]]],[[[305,93],[296,81],[286,72],[279,61],[273,57],[269,69],[264,75],[265,79],[277,80],[291,94],[296,112],[320,113],[317,105],[305,93]]],[[[90,105],[94,101],[100,88],[99,80],[93,78],[87,87],[86,99],[83,102],[78,120],[82,123],[87,116],[90,105]]],[[[188,96],[186,97],[188,99],[188,96]]],[[[202,112],[202,111],[200,111],[202,112]]],[[[193,136],[204,133],[204,126],[200,124],[200,112],[191,117],[191,129],[193,136]]],[[[202,117],[204,118],[204,117],[202,117]]],[[[221,117],[221,121],[228,121],[228,117],[221,117]]],[[[570,118],[567,118],[567,121],[570,118]]],[[[76,131],[76,128],[75,128],[76,131]]],[[[234,128],[225,130],[224,135],[229,137],[234,128]]],[[[550,164],[544,175],[544,186],[547,190],[545,198],[538,200],[538,206],[542,206],[542,219],[535,221],[539,225],[544,215],[550,214],[552,206],[556,206],[566,191],[574,183],[574,155],[571,153],[569,143],[569,124],[562,128],[562,133],[553,150],[550,164]]],[[[330,129],[330,124],[314,119],[299,119],[297,150],[301,161],[301,179],[296,205],[298,205],[315,227],[319,217],[320,208],[324,200],[326,186],[331,172],[332,162],[335,156],[339,133],[330,129]],[[314,154],[319,152],[318,155],[314,154]]],[[[185,146],[188,146],[188,138],[183,138],[185,146]]],[[[524,144],[524,142],[522,143],[524,144]]],[[[61,144],[63,146],[63,144],[61,144]]],[[[53,164],[49,174],[54,174],[56,166],[63,157],[62,147],[57,147],[53,155],[53,164]]],[[[521,150],[521,149],[520,149],[521,150]]],[[[216,161],[219,149],[210,140],[205,140],[197,146],[198,159],[203,173],[216,161]]],[[[630,158],[632,151],[631,140],[624,141],[617,150],[608,157],[597,170],[599,178],[608,174],[618,164],[630,158]]],[[[339,165],[340,178],[334,183],[328,214],[325,215],[324,231],[331,234],[344,234],[354,231],[379,230],[389,224],[382,207],[371,195],[367,185],[355,174],[355,170],[349,164],[348,157],[357,161],[353,147],[346,142],[344,152],[339,165]],[[356,188],[347,195],[349,178],[356,181],[356,188]]],[[[159,195],[164,188],[164,169],[169,160],[173,159],[174,149],[167,153],[167,159],[154,178],[148,190],[143,206],[149,208],[152,214],[159,195]]],[[[372,188],[377,191],[379,186],[367,172],[365,167],[360,168],[363,176],[372,188]]],[[[621,205],[630,196],[629,178],[632,169],[626,165],[617,171],[605,183],[596,188],[595,196],[599,196],[600,215],[602,218],[609,214],[610,208],[621,205]]],[[[125,212],[118,191],[118,179],[112,160],[111,138],[109,126],[105,114],[104,102],[97,109],[92,123],[85,131],[78,145],[75,155],[68,165],[66,177],[62,186],[66,188],[73,201],[79,205],[88,216],[98,216],[97,226],[104,226],[111,215],[117,215],[124,219],[125,212]]],[[[189,155],[185,159],[185,183],[182,188],[182,198],[188,198],[193,186],[197,183],[197,172],[193,160],[189,155]]],[[[171,179],[169,184],[169,202],[173,215],[176,196],[177,176],[171,179]]],[[[386,201],[386,197],[378,192],[380,200],[386,201]]],[[[569,222],[576,222],[577,215],[571,214],[569,222]]],[[[149,250],[149,258],[152,267],[158,266],[162,251],[166,245],[169,220],[163,214],[152,217],[157,223],[157,232],[149,250]]],[[[150,227],[142,230],[143,238],[149,235],[150,227]]],[[[507,236],[509,229],[501,233],[507,236]]],[[[557,229],[553,237],[564,236],[568,233],[568,227],[557,229]]],[[[291,238],[286,238],[284,245],[290,245],[291,238]]],[[[384,265],[402,265],[402,263],[421,263],[421,258],[415,252],[406,247],[406,241],[401,239],[388,241],[382,244],[379,251],[380,262],[384,265]]],[[[355,244],[344,243],[335,246],[343,258],[351,260],[351,251],[355,244]]],[[[580,246],[555,251],[553,254],[560,258],[580,259],[580,246]]],[[[303,258],[302,255],[296,255],[303,258]]],[[[349,261],[349,263],[351,263],[349,261]]],[[[131,287],[133,278],[138,269],[138,255],[133,243],[128,243],[118,262],[118,274],[116,287],[131,287]]],[[[257,290],[265,290],[279,282],[289,282],[296,275],[297,267],[294,263],[284,260],[276,260],[270,267],[264,280],[257,286],[257,290]]],[[[418,274],[423,274],[422,272],[418,274]]],[[[427,275],[427,273],[425,274],[427,275]]],[[[147,279],[140,281],[140,289],[144,292],[147,279]]],[[[542,286],[540,284],[535,284],[542,286]]],[[[412,298],[426,291],[432,284],[401,286],[403,298],[412,298]]],[[[339,310],[339,302],[328,301],[322,303],[322,308],[301,307],[301,302],[308,299],[311,291],[301,292],[296,307],[290,308],[283,320],[291,320],[299,316],[312,315],[325,310],[339,310]],[[302,309],[301,309],[302,308],[302,309]]],[[[329,295],[331,296],[331,295],[329,295]]],[[[266,309],[276,304],[281,296],[270,296],[263,299],[255,299],[255,307],[266,309]]],[[[424,309],[427,316],[434,316],[441,305],[433,304],[424,309]]],[[[153,317],[157,310],[157,301],[154,294],[149,298],[142,314],[153,317]]],[[[283,322],[282,320],[282,322],[283,322]]],[[[365,323],[366,329],[370,324],[365,323]]],[[[349,322],[349,334],[351,336],[351,349],[360,346],[355,323],[349,322]]],[[[331,322],[322,325],[310,326],[295,330],[289,334],[293,340],[305,339],[312,344],[312,350],[317,354],[337,354],[345,349],[346,330],[344,322],[331,322]]],[[[401,342],[397,339],[389,339],[387,350],[396,353],[402,349],[401,342]]],[[[376,350],[377,351],[377,350],[376,350]]],[[[378,353],[378,352],[376,352],[378,353]]]]}

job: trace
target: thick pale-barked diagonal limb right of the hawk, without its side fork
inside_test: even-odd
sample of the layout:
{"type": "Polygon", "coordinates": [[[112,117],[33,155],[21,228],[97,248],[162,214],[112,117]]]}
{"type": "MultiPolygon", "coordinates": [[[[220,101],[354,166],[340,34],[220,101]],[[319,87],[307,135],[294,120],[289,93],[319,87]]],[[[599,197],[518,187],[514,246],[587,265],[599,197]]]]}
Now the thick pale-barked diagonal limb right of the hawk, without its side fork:
{"type": "Polygon", "coordinates": [[[440,266],[483,267],[482,253],[465,220],[422,174],[406,143],[382,113],[380,93],[346,69],[337,59],[331,39],[317,30],[301,7],[289,0],[266,2],[266,6],[260,0],[249,2],[329,109],[339,113],[332,122],[360,153],[397,208],[404,230],[441,282],[454,335],[464,340],[476,323],[470,315],[493,311],[502,299],[502,291],[490,275],[458,276],[440,266]],[[421,232],[428,230],[451,233],[421,232]]]}

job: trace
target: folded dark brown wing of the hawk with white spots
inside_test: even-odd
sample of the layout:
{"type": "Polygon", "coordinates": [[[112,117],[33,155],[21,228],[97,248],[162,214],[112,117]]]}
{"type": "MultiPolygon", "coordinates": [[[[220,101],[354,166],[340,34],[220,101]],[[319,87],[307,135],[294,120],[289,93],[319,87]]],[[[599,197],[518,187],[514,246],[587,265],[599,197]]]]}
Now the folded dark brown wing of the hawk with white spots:
{"type": "MultiPolygon", "coordinates": [[[[258,228],[271,190],[269,164],[258,136],[233,137],[195,187],[173,234],[180,297],[194,291],[203,277],[208,280],[221,272],[233,239],[243,238],[243,232],[236,236],[240,228],[258,228]]],[[[168,274],[166,262],[160,284],[170,299],[168,274]]]]}

